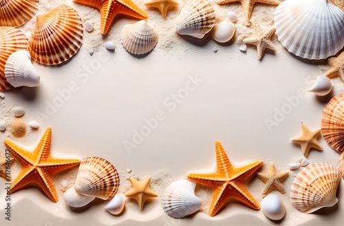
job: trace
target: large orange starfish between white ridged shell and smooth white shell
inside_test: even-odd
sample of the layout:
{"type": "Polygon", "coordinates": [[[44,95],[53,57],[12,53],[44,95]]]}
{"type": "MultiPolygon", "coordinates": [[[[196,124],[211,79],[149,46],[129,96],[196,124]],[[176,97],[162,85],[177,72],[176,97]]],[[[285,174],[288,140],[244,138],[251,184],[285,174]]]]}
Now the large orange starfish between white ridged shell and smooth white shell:
{"type": "Polygon", "coordinates": [[[210,174],[189,174],[191,181],[213,190],[209,216],[215,216],[230,198],[235,198],[253,209],[260,209],[259,203],[244,186],[246,179],[263,165],[256,161],[242,167],[233,167],[219,141],[215,142],[217,170],[210,174]]]}

